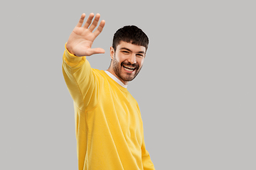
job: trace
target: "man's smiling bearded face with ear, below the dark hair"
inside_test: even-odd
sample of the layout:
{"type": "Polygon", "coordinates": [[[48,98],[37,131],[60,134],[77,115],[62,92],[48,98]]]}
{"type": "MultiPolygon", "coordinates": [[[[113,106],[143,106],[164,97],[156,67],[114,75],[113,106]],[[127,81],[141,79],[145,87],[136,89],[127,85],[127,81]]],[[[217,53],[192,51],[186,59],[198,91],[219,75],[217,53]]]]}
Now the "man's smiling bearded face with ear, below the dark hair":
{"type": "Polygon", "coordinates": [[[112,71],[119,80],[127,84],[127,81],[132,81],[142,69],[146,47],[121,41],[115,52],[113,47],[110,48],[110,55],[112,71]]]}

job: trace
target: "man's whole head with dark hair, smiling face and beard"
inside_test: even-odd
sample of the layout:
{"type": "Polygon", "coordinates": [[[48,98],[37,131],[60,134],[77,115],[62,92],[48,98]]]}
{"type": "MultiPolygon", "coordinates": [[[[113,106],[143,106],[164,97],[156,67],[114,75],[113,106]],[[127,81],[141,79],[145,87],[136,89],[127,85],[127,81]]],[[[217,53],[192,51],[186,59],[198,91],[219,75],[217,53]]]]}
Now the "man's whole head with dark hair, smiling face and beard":
{"type": "Polygon", "coordinates": [[[108,69],[124,84],[132,81],[142,69],[149,38],[137,26],[124,26],[114,33],[108,69]]]}

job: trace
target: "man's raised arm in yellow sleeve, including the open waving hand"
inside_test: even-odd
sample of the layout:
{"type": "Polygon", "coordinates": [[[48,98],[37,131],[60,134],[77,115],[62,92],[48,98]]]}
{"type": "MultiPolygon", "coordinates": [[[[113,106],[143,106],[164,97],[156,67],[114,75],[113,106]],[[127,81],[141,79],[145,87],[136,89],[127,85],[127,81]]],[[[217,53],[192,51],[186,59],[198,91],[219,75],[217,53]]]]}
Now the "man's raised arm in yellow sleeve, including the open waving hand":
{"type": "Polygon", "coordinates": [[[94,21],[92,21],[93,17],[94,14],[91,13],[85,25],[82,26],[85,13],[82,14],[78,25],[70,34],[65,45],[67,50],[63,54],[63,76],[75,106],[80,111],[94,107],[99,96],[99,91],[96,90],[97,77],[92,73],[92,68],[86,60],[86,56],[105,52],[102,48],[91,48],[92,42],[102,32],[105,21],[101,21],[100,26],[92,32],[97,27],[100,14],[95,16],[94,21]]]}

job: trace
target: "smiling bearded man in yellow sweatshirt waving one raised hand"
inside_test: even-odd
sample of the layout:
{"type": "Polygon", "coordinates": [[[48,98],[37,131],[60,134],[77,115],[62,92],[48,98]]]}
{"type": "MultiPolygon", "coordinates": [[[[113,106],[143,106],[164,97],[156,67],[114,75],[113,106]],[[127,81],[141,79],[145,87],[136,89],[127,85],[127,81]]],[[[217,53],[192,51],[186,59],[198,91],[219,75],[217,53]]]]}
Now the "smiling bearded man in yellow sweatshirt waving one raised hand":
{"type": "Polygon", "coordinates": [[[110,47],[110,68],[92,69],[85,56],[105,52],[91,48],[105,26],[101,21],[95,30],[100,14],[93,18],[90,13],[82,26],[82,14],[63,55],[63,75],[75,107],[78,169],[153,170],[139,106],[127,91],[128,81],[142,69],[149,39],[136,26],[120,28],[110,47]]]}

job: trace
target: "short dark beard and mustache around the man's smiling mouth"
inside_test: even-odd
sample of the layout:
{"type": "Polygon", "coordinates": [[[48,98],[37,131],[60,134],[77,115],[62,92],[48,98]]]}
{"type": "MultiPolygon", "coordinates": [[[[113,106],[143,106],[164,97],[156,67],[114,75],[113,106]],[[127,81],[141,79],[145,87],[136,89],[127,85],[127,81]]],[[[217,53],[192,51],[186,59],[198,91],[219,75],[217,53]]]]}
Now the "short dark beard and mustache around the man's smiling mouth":
{"type": "Polygon", "coordinates": [[[142,67],[139,67],[138,63],[132,64],[132,63],[127,62],[127,61],[119,63],[117,61],[117,58],[115,57],[115,54],[114,54],[113,70],[114,70],[114,74],[116,74],[119,79],[121,79],[123,81],[132,81],[133,79],[135,79],[135,77],[137,77],[137,75],[139,74],[141,69],[142,69],[142,67]],[[124,69],[123,69],[124,65],[135,67],[135,69],[132,73],[124,72],[124,69]]]}

